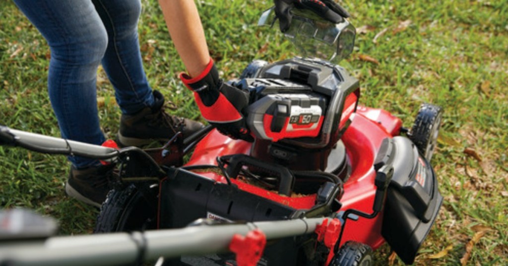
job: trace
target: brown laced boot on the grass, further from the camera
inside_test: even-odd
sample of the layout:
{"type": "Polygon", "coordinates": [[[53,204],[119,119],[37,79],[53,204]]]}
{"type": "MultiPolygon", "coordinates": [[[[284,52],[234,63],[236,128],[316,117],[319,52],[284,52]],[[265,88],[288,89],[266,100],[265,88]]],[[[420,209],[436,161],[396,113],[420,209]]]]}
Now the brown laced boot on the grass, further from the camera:
{"type": "Polygon", "coordinates": [[[164,96],[153,91],[155,102],[134,115],[120,118],[118,144],[121,146],[142,146],[153,141],[167,142],[177,132],[188,137],[203,128],[203,124],[168,115],[164,110],[164,96]]]}

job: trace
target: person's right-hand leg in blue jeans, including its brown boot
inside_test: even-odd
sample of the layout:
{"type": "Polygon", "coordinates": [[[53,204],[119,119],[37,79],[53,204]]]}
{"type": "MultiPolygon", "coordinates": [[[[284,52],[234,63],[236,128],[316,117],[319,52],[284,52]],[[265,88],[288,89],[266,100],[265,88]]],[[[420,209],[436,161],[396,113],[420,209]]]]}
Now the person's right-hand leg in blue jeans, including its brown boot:
{"type": "Polygon", "coordinates": [[[201,123],[169,116],[164,97],[152,92],[146,80],[138,40],[140,0],[92,0],[108,32],[108,49],[102,64],[115,87],[122,116],[118,141],[121,145],[144,145],[167,141],[177,132],[183,136],[201,129],[201,123]]]}

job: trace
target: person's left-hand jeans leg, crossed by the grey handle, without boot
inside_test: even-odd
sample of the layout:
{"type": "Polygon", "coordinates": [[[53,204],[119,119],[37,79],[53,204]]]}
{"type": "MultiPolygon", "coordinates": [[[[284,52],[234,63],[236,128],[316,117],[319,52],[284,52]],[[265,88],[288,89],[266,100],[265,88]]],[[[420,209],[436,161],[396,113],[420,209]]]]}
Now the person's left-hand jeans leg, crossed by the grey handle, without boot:
{"type": "MultiPolygon", "coordinates": [[[[63,138],[101,144],[97,110],[97,67],[108,39],[90,0],[14,0],[51,49],[48,92],[63,138]]],[[[69,157],[78,168],[97,164],[69,157]]]]}

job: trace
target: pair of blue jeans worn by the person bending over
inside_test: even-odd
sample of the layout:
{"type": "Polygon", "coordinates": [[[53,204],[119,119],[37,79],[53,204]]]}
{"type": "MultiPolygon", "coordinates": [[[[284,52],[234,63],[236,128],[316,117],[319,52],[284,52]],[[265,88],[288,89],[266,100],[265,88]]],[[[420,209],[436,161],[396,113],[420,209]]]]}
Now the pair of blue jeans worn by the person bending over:
{"type": "MultiPolygon", "coordinates": [[[[62,138],[105,140],[97,110],[102,62],[122,113],[153,105],[139,50],[140,0],[14,0],[51,49],[48,93],[62,138]]],[[[69,157],[78,168],[96,160],[69,157]]]]}

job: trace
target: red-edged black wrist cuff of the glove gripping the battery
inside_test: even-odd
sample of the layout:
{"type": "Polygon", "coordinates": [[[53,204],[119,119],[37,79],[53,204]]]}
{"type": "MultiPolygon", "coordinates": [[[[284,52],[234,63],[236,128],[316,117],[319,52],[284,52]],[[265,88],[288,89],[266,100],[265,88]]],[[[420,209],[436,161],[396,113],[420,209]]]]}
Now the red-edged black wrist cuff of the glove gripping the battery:
{"type": "Polygon", "coordinates": [[[210,58],[210,62],[206,65],[203,72],[197,77],[190,77],[187,73],[180,73],[180,80],[182,80],[185,86],[195,92],[201,92],[215,88],[219,83],[219,72],[210,58]]]}

